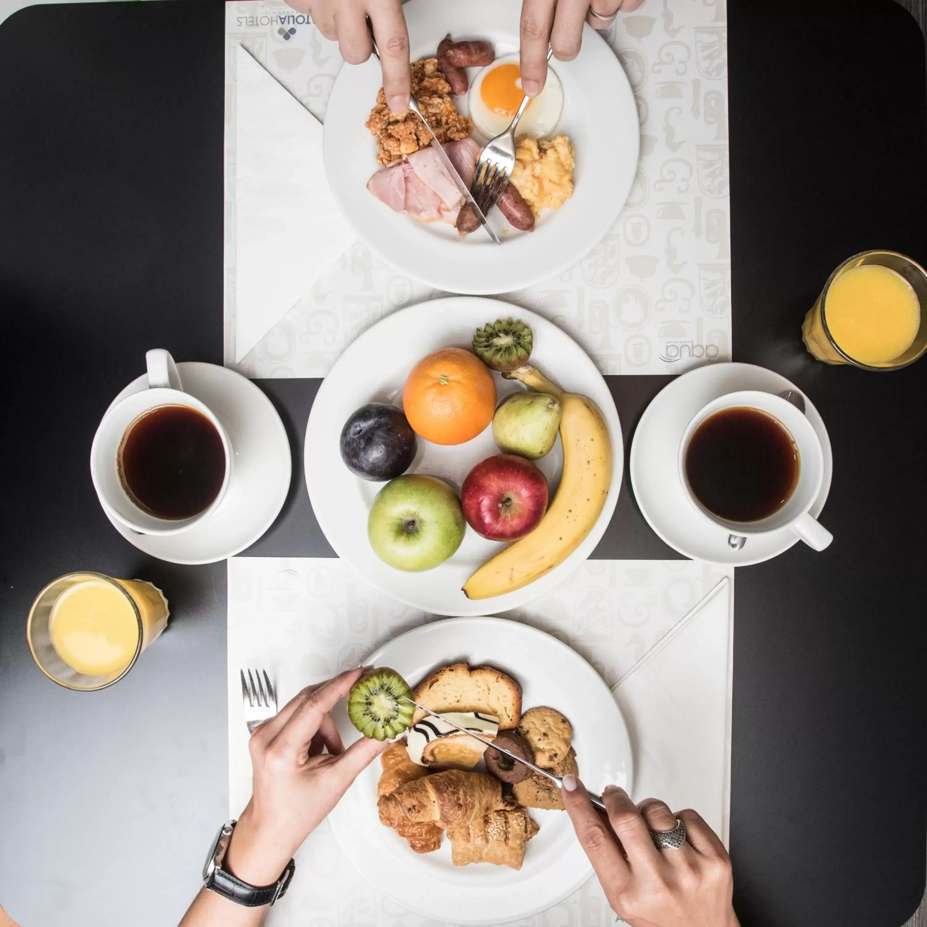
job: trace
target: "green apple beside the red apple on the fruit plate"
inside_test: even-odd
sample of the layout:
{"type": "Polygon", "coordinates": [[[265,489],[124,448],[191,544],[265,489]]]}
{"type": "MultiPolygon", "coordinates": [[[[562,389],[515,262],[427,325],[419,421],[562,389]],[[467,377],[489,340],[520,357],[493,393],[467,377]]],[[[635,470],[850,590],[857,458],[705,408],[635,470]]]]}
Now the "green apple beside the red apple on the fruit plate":
{"type": "Polygon", "coordinates": [[[398,570],[418,573],[443,564],[464,540],[461,502],[435,476],[397,476],[376,494],[367,519],[375,554],[398,570]]]}

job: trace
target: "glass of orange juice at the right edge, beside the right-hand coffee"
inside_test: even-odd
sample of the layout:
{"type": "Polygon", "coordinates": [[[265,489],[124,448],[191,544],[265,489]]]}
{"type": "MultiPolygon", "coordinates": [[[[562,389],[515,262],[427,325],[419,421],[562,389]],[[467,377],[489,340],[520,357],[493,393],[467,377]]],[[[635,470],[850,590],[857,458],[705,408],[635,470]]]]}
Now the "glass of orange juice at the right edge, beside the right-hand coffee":
{"type": "Polygon", "coordinates": [[[802,325],[819,361],[897,370],[927,350],[927,272],[897,251],[863,251],[831,274],[802,325]]]}

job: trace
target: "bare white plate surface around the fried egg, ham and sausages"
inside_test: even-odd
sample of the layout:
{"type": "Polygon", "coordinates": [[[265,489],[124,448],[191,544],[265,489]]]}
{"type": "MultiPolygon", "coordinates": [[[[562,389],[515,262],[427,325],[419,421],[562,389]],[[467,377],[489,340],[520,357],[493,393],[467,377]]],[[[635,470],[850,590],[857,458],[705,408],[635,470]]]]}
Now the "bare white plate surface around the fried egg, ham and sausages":
{"type": "MultiPolygon", "coordinates": [[[[491,42],[497,57],[518,50],[517,0],[410,0],[402,10],[413,61],[434,57],[449,32],[491,42]]],[[[575,191],[560,210],[546,210],[530,233],[516,231],[493,210],[489,222],[504,235],[500,247],[482,230],[462,240],[444,222],[414,222],[368,192],[367,181],[380,164],[364,123],[382,83],[380,66],[371,58],[343,67],[325,110],[324,160],[332,193],[355,232],[400,272],[451,293],[512,292],[585,257],[628,198],[640,145],[638,111],[615,53],[589,26],[578,57],[552,60],[552,69],[564,88],[554,133],[566,133],[575,147],[575,191]]],[[[470,70],[471,79],[476,72],[470,70]]],[[[466,113],[466,98],[456,102],[466,113]]]]}

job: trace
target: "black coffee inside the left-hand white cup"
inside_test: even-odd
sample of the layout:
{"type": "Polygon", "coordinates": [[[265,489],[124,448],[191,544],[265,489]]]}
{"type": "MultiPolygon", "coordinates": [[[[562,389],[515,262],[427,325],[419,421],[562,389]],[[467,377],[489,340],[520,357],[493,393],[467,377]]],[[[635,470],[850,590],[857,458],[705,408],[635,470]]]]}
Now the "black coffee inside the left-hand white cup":
{"type": "Polygon", "coordinates": [[[196,409],[165,405],[129,425],[119,449],[122,486],[158,518],[191,518],[210,507],[225,479],[222,438],[196,409]]]}

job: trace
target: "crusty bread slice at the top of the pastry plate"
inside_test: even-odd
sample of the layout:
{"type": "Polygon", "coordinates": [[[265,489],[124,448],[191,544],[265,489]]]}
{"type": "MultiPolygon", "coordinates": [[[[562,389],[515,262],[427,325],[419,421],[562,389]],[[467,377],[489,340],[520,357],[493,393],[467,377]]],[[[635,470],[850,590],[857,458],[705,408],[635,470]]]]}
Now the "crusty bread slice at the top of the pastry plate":
{"type": "MultiPolygon", "coordinates": [[[[432,711],[478,711],[499,718],[499,730],[513,730],[521,720],[518,683],[492,667],[454,663],[441,667],[415,689],[415,701],[432,711]]],[[[416,710],[413,724],[425,717],[416,710]]]]}

